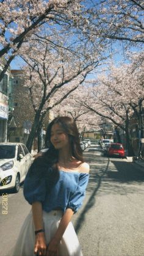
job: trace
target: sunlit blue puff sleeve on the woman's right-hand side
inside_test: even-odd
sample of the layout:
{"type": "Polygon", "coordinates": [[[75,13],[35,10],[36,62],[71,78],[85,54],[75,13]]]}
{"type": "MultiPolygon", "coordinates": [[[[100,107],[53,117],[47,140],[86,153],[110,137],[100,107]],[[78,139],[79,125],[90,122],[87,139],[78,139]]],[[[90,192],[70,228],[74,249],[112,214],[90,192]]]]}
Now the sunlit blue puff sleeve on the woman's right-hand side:
{"type": "Polygon", "coordinates": [[[89,174],[81,173],[76,191],[71,194],[67,208],[71,208],[74,213],[81,207],[85,197],[85,189],[87,188],[89,174]]]}

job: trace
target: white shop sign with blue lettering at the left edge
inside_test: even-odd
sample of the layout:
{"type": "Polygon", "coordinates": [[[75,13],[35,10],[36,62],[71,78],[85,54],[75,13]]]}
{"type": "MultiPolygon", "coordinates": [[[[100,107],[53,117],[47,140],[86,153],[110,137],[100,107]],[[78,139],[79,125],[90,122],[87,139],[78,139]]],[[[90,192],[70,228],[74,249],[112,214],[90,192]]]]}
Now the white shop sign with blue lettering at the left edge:
{"type": "Polygon", "coordinates": [[[8,119],[8,117],[9,117],[8,97],[0,92],[0,118],[8,119]]]}

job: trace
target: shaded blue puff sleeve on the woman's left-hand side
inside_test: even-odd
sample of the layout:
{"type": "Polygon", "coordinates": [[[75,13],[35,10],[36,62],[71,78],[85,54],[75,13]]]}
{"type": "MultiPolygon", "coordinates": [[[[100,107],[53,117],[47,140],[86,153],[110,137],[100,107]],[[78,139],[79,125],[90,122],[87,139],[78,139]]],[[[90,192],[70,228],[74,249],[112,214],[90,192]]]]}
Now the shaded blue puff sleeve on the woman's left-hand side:
{"type": "Polygon", "coordinates": [[[31,205],[36,201],[42,203],[45,200],[46,180],[42,175],[43,170],[41,170],[41,167],[38,160],[35,159],[24,180],[24,197],[31,205]]]}

